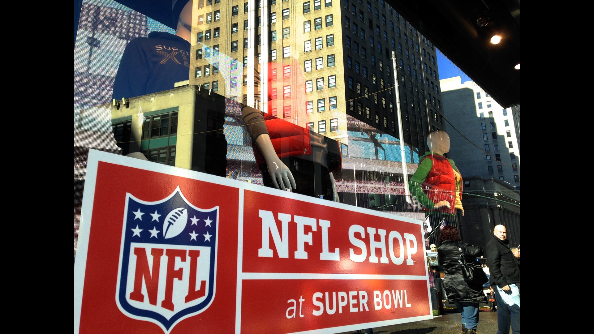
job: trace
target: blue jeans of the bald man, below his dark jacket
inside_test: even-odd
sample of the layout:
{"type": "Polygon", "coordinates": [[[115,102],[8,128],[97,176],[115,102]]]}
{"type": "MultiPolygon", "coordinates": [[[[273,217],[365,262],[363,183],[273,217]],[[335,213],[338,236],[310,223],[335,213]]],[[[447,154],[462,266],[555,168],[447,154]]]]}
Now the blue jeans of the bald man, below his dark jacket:
{"type": "Polygon", "coordinates": [[[497,299],[497,334],[520,334],[520,288],[510,284],[510,291],[493,286],[497,299]]]}

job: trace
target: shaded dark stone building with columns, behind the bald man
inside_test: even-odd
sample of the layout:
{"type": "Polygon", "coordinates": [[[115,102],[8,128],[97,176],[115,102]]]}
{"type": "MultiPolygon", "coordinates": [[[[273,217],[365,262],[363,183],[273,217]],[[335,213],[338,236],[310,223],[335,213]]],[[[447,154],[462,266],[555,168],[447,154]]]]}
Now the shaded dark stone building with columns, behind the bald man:
{"type": "Polygon", "coordinates": [[[470,244],[485,247],[495,225],[507,228],[510,247],[520,245],[520,191],[495,178],[466,177],[459,217],[460,237],[470,244]]]}

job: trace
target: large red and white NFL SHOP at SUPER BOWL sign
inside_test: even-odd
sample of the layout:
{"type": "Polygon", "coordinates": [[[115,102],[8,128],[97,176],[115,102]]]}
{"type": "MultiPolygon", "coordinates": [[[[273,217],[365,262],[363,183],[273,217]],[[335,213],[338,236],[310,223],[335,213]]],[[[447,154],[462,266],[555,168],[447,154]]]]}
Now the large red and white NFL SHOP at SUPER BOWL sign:
{"type": "Polygon", "coordinates": [[[75,333],[337,333],[432,318],[421,220],[91,150],[75,333]]]}

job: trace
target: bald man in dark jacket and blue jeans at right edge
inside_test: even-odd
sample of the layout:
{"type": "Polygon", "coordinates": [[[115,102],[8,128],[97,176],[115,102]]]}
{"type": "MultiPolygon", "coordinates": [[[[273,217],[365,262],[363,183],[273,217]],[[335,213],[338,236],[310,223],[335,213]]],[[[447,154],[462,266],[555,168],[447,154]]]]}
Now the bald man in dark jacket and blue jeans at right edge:
{"type": "Polygon", "coordinates": [[[497,300],[497,334],[520,334],[520,266],[507,241],[503,225],[495,226],[486,244],[491,286],[497,300]]]}

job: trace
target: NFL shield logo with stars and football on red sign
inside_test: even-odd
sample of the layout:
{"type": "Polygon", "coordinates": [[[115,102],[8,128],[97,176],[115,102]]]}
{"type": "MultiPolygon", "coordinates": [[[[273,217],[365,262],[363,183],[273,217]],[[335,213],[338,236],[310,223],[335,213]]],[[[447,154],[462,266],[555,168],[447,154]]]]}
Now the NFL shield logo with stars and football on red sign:
{"type": "Polygon", "coordinates": [[[219,207],[200,209],[179,187],[147,202],[127,194],[116,303],[165,333],[206,310],[215,292],[219,207]]]}

